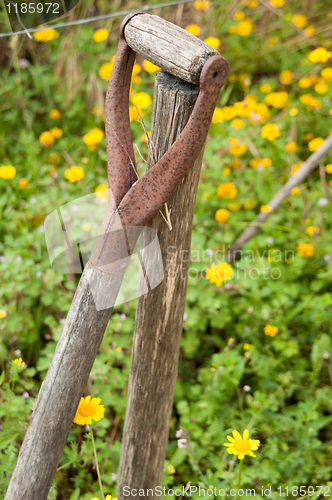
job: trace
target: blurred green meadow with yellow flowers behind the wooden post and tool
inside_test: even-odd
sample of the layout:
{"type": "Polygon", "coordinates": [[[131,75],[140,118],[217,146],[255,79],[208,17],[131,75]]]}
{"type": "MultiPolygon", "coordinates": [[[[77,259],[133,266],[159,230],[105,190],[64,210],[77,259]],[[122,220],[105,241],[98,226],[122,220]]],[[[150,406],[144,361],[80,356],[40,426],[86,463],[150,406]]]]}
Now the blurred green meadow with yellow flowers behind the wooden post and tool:
{"type": "MultiPolygon", "coordinates": [[[[82,0],[68,20],[142,5],[82,0]]],[[[244,460],[244,488],[260,496],[271,485],[277,497],[277,487],[294,487],[289,495],[297,497],[297,487],[313,486],[313,494],[306,491],[317,498],[316,486],[327,485],[320,496],[331,495],[332,154],[246,244],[231,279],[204,277],[332,132],[331,4],[213,0],[151,12],[207,39],[230,65],[197,196],[164,486],[236,487],[239,463],[223,443],[233,429],[247,428],[261,446],[256,458],[244,460]],[[176,439],[180,427],[193,455],[176,439]]],[[[10,31],[4,9],[0,15],[1,32],[10,31]]],[[[103,201],[103,106],[122,18],[31,40],[0,38],[1,495],[79,279],[51,268],[43,221],[86,194],[103,201]]],[[[137,59],[131,124],[143,157],[147,146],[134,104],[149,130],[155,70],[137,59]]],[[[140,156],[137,162],[141,174],[140,156]]],[[[112,495],[134,318],[135,301],[116,309],[85,394],[100,397],[106,408],[94,430],[112,495]]],[[[90,500],[98,491],[88,430],[73,425],[49,498],[90,500]]]]}

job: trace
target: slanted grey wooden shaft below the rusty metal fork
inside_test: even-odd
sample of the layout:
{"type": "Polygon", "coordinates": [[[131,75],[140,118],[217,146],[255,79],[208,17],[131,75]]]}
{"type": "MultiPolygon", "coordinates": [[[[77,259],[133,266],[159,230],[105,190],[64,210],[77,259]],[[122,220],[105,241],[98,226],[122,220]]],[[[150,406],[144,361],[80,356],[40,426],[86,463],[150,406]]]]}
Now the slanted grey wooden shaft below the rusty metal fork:
{"type": "MultiPolygon", "coordinates": [[[[115,301],[122,276],[85,266],[52,363],[42,383],[5,500],[46,500],[112,308],[97,311],[91,293],[115,301]]],[[[113,302],[114,303],[114,302],[113,302]]]]}

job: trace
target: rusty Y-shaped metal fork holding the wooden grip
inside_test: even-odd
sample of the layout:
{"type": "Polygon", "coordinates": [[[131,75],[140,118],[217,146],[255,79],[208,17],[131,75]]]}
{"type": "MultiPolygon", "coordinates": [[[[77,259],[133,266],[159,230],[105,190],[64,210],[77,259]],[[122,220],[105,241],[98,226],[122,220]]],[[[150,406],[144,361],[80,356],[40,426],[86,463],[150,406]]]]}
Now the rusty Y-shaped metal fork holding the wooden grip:
{"type": "Polygon", "coordinates": [[[109,203],[90,257],[94,266],[104,270],[108,267],[109,272],[115,273],[116,261],[131,255],[139,227],[146,225],[164,205],[194,164],[204,146],[220,89],[228,75],[228,63],[220,54],[207,59],[200,73],[198,99],[187,125],[162,158],[138,179],[129,121],[129,88],[135,52],[123,36],[126,24],[135,17],[135,13],[131,14],[122,23],[105,106],[108,185],[117,210],[109,203]],[[137,230],[129,231],[126,229],[129,226],[137,230]]]}

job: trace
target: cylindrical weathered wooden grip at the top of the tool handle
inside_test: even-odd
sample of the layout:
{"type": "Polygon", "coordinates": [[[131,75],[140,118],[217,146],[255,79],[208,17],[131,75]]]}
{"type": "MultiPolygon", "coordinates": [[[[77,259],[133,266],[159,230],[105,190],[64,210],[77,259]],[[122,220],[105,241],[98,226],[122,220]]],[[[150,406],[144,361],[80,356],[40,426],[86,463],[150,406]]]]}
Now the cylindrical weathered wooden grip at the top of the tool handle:
{"type": "Polygon", "coordinates": [[[206,60],[219,52],[196,36],[159,16],[137,13],[124,22],[129,47],[161,69],[199,84],[206,60]]]}

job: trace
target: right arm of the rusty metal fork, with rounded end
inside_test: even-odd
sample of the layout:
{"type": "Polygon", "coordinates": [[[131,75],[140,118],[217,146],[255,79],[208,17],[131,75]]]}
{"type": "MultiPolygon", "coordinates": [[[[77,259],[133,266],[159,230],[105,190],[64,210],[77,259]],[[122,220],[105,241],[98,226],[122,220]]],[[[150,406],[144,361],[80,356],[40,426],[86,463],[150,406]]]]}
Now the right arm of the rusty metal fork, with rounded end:
{"type": "Polygon", "coordinates": [[[118,206],[124,226],[144,226],[192,167],[205,143],[227,75],[226,59],[216,55],[207,60],[200,76],[199,95],[187,125],[162,158],[133,184],[118,206]]]}

